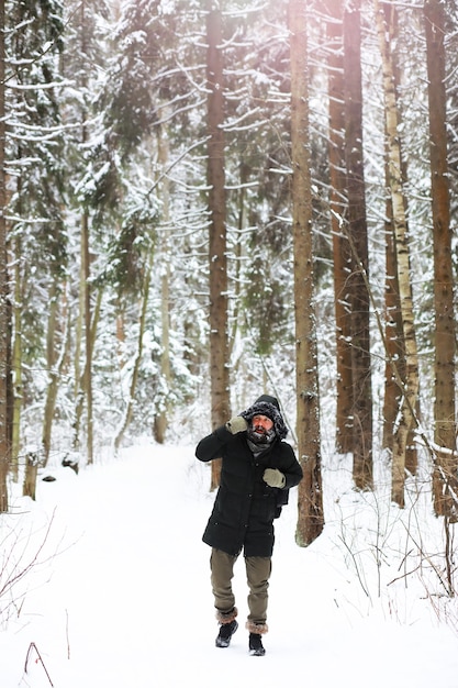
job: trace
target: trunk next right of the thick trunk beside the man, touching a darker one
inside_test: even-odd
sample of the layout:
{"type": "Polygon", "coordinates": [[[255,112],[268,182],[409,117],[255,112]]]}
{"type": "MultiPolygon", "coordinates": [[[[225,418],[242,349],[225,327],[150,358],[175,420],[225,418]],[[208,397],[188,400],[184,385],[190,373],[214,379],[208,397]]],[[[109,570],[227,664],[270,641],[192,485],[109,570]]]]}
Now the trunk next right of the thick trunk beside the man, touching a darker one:
{"type": "Polygon", "coordinates": [[[336,451],[346,454],[353,450],[353,379],[351,379],[351,320],[348,273],[351,254],[344,217],[347,207],[344,132],[344,59],[343,7],[328,2],[328,91],[329,91],[329,207],[334,257],[334,304],[336,321],[336,451]]]}

